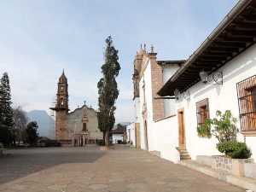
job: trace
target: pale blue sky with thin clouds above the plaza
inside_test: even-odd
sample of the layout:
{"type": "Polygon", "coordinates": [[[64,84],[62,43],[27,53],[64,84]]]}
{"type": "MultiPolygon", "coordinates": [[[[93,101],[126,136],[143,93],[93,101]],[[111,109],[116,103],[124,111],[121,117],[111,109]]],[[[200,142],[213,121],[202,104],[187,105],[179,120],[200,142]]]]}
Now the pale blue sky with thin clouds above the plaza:
{"type": "Polygon", "coordinates": [[[0,73],[13,106],[49,113],[65,68],[70,108],[97,108],[105,39],[119,49],[116,122],[133,120],[133,59],[140,44],[158,60],[187,59],[237,0],[0,0],[0,73]]]}

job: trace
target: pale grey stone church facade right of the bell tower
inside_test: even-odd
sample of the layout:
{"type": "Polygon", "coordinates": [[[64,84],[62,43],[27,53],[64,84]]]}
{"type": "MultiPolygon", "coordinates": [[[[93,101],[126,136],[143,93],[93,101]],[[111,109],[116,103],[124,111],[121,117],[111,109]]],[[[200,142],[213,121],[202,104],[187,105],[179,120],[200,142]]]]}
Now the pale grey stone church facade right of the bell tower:
{"type": "Polygon", "coordinates": [[[87,106],[76,108],[73,112],[67,114],[67,139],[72,139],[73,133],[82,131],[84,109],[89,120],[86,125],[86,129],[90,132],[89,139],[102,139],[102,132],[98,129],[97,113],[93,108],[87,106]]]}

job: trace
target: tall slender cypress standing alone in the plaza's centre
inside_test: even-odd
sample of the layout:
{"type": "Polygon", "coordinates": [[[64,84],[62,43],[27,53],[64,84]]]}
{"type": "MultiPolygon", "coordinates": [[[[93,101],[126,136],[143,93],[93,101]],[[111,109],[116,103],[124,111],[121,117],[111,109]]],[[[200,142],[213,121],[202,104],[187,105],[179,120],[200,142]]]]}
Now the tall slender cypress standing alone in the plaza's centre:
{"type": "Polygon", "coordinates": [[[105,145],[109,146],[109,132],[112,130],[115,118],[114,106],[119,96],[116,77],[119,75],[120,65],[118,50],[113,46],[113,40],[109,36],[106,39],[106,49],[104,52],[105,63],[102,65],[103,77],[97,84],[98,87],[98,127],[102,131],[105,145]]]}

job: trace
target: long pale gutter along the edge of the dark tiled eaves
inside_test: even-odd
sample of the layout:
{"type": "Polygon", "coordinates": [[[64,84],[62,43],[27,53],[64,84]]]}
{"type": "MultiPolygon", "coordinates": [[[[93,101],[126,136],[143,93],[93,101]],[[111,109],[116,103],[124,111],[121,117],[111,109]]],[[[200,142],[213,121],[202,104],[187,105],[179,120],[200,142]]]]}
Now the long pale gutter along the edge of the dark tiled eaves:
{"type": "Polygon", "coordinates": [[[195,52],[189,56],[188,61],[183,63],[183,67],[181,67],[179,70],[177,70],[177,73],[174,73],[171,79],[168,80],[168,82],[175,81],[183,71],[185,71],[189,65],[195,61],[197,55],[201,55],[201,53],[207,48],[208,44],[210,44],[214,38],[217,38],[218,35],[223,32],[224,28],[226,26],[230,25],[230,22],[234,20],[243,9],[247,7],[249,3],[251,3],[253,0],[241,0],[236,4],[236,6],[231,9],[230,13],[224,17],[224,20],[222,20],[218,26],[213,30],[213,32],[207,37],[207,39],[201,44],[201,46],[195,50],[195,52]]]}

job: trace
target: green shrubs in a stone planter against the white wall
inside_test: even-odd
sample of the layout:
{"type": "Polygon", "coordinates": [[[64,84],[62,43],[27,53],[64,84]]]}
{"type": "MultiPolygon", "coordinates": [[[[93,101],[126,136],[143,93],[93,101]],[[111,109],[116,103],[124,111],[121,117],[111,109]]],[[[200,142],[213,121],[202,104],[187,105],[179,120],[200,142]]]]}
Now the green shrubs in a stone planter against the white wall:
{"type": "Polygon", "coordinates": [[[225,154],[225,156],[212,156],[212,168],[244,176],[243,164],[253,162],[253,160],[247,160],[252,153],[246,143],[237,142],[236,122],[237,119],[233,117],[230,110],[224,113],[217,111],[216,118],[206,119],[205,124],[197,128],[197,132],[201,137],[216,137],[218,139],[216,148],[220,153],[225,154]]]}

